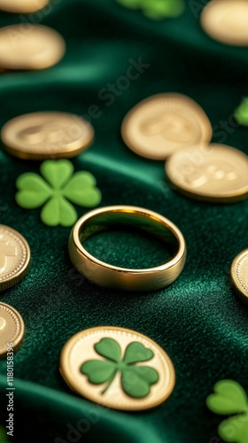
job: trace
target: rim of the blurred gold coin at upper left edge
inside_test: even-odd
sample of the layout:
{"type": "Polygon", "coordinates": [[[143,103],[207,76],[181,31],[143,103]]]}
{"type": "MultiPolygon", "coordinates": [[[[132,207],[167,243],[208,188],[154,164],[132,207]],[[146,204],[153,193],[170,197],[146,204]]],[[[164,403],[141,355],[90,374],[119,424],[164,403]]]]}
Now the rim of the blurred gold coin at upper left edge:
{"type": "MultiPolygon", "coordinates": [[[[2,33],[4,34],[4,30],[6,30],[6,29],[15,30],[16,28],[19,28],[19,25],[8,25],[5,27],[1,27],[0,28],[0,42],[1,42],[1,34],[2,33]]],[[[37,62],[34,62],[33,57],[30,58],[30,56],[27,55],[27,57],[24,58],[24,61],[22,61],[21,63],[18,63],[18,62],[15,63],[14,58],[12,59],[11,63],[9,63],[8,61],[4,63],[4,60],[0,56],[1,68],[3,67],[3,68],[6,68],[8,70],[13,70],[13,71],[14,70],[39,71],[40,69],[47,69],[50,66],[56,65],[64,57],[64,55],[66,53],[66,42],[65,42],[63,36],[61,34],[59,34],[58,31],[56,31],[55,29],[53,29],[51,27],[47,27],[44,25],[36,25],[36,24],[32,25],[33,31],[34,31],[34,29],[37,29],[37,28],[39,28],[39,29],[43,28],[42,32],[49,32],[50,35],[53,34],[54,38],[56,38],[56,40],[57,40],[56,45],[57,45],[57,48],[58,48],[58,46],[59,46],[59,48],[58,48],[57,52],[54,51],[55,55],[53,55],[53,58],[52,59],[46,58],[45,60],[42,61],[42,63],[41,63],[41,61],[39,61],[37,63],[37,62]]]]}

